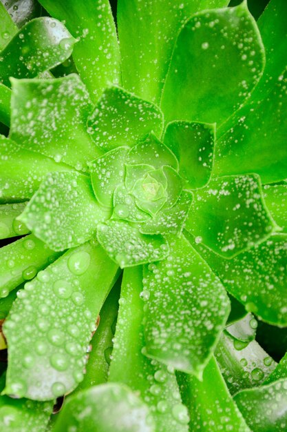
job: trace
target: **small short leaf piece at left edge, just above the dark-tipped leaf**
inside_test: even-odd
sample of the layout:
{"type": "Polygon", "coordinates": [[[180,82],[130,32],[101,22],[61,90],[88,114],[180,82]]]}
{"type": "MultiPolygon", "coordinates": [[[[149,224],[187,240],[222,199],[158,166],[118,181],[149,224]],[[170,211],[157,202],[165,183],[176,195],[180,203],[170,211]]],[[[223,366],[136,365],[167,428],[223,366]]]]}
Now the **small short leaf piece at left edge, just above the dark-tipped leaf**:
{"type": "Polygon", "coordinates": [[[0,205],[0,239],[29,233],[28,228],[16,220],[16,217],[23,212],[26,204],[26,202],[19,202],[0,205]]]}

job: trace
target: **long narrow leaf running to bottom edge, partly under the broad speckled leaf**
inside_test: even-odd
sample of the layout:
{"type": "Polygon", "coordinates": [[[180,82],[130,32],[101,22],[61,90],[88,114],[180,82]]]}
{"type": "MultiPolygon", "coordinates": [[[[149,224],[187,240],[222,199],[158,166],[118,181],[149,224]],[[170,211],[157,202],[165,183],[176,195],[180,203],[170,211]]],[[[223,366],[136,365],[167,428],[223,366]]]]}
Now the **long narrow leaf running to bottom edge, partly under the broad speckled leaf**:
{"type": "Polygon", "coordinates": [[[125,269],[109,381],[127,384],[151,409],[157,432],[187,432],[189,416],[180,401],[176,375],[142,354],[142,268],[125,269]],[[131,313],[132,311],[132,313],[131,313]],[[125,364],[125,367],[123,367],[125,364]]]}

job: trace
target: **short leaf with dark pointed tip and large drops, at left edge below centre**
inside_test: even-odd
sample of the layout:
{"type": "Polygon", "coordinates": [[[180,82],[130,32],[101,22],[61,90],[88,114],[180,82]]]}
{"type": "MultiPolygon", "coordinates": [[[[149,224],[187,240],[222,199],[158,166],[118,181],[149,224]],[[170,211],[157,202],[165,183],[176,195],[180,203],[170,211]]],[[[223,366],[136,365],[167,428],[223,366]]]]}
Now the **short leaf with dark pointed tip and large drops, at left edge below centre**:
{"type": "Polygon", "coordinates": [[[59,257],[33,234],[0,249],[0,297],[29,279],[59,257]]]}

